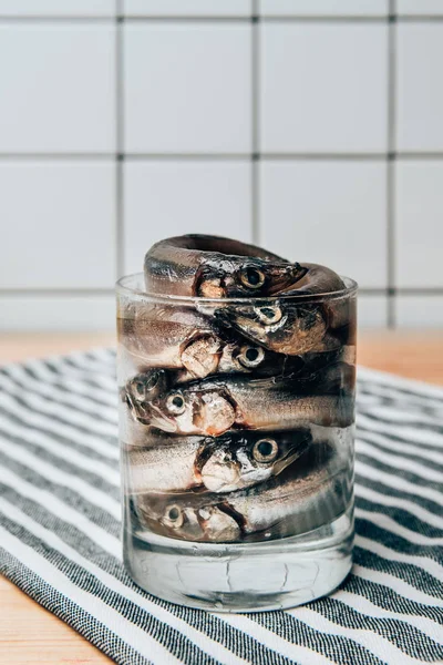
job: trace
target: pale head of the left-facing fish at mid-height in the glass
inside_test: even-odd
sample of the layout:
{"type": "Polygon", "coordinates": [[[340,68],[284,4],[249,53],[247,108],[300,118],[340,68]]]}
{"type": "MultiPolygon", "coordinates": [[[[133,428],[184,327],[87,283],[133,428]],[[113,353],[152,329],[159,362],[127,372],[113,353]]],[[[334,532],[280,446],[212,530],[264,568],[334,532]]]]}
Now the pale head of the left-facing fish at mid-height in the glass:
{"type": "Polygon", "coordinates": [[[236,412],[223,389],[174,389],[151,405],[151,424],[179,434],[217,437],[235,422],[236,412]]]}

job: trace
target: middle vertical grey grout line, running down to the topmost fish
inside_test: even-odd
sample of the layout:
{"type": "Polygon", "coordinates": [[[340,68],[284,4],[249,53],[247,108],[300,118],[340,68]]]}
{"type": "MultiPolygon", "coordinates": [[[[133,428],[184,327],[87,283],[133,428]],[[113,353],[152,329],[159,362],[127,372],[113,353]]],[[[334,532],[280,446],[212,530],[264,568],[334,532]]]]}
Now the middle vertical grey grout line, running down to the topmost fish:
{"type": "Polygon", "coordinates": [[[259,222],[259,17],[258,0],[253,0],[253,16],[250,18],[251,30],[251,150],[250,156],[250,197],[251,197],[251,235],[253,243],[260,243],[260,222],[259,222]]]}

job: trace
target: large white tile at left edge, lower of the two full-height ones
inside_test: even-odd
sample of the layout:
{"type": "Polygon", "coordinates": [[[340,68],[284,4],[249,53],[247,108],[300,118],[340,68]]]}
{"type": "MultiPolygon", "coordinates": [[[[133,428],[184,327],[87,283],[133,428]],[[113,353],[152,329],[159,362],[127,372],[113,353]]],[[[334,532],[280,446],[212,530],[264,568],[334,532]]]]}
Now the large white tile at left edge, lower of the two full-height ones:
{"type": "Polygon", "coordinates": [[[114,172],[100,162],[0,163],[0,288],[113,286],[114,172]]]}

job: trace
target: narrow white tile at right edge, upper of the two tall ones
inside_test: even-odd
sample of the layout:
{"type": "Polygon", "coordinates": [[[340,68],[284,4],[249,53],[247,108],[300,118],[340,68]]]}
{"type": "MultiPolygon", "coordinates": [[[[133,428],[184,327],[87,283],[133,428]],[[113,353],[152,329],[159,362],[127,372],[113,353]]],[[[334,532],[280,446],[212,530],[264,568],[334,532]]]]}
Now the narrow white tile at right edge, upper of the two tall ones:
{"type": "Polygon", "coordinates": [[[443,150],[443,23],[399,23],[396,147],[443,150]]]}

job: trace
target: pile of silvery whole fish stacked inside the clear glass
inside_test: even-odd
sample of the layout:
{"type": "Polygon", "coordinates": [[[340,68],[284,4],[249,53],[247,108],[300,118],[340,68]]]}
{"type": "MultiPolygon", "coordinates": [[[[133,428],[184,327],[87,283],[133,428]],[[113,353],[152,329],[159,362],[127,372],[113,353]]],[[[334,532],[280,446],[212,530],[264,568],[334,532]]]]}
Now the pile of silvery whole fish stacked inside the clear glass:
{"type": "Polygon", "coordinates": [[[350,505],[356,303],[327,267],[228,238],[154,245],[121,306],[124,491],[138,530],[307,533],[350,505]]]}

